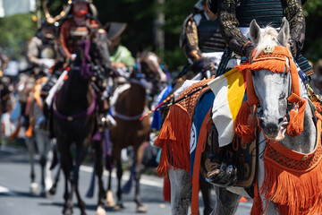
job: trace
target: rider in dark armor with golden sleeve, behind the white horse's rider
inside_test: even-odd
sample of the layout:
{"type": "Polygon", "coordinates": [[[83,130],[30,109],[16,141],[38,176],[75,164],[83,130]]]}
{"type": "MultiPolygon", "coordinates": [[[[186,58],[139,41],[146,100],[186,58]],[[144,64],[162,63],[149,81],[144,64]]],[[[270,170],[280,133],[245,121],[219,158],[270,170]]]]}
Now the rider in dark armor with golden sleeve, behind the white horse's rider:
{"type": "Polygon", "coordinates": [[[219,32],[217,14],[208,9],[207,3],[208,0],[199,0],[194,12],[182,24],[180,47],[189,58],[183,73],[214,71],[226,47],[219,32]]]}

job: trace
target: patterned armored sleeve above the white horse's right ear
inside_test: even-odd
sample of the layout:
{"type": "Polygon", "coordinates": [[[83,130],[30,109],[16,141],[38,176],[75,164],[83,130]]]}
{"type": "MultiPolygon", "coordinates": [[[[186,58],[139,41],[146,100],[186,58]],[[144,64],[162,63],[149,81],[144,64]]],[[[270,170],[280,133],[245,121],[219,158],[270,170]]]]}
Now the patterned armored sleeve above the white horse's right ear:
{"type": "Polygon", "coordinates": [[[305,40],[305,17],[301,0],[284,0],[284,13],[290,22],[291,39],[301,51],[305,40]]]}

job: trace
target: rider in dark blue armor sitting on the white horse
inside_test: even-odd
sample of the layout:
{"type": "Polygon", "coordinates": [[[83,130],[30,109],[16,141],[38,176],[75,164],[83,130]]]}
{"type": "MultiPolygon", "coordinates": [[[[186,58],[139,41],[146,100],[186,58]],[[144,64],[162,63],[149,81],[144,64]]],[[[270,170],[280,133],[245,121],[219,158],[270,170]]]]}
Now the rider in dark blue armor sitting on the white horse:
{"type": "MultiPolygon", "coordinates": [[[[298,0],[222,0],[219,4],[215,0],[208,1],[208,7],[216,13],[218,10],[219,28],[225,38],[228,48],[219,65],[217,74],[225,73],[233,68],[237,62],[249,59],[254,45],[248,38],[250,22],[255,19],[261,28],[270,25],[274,28],[281,27],[285,16],[290,23],[290,35],[287,47],[292,52],[295,61],[301,67],[299,72],[301,80],[308,83],[308,78],[313,70],[300,51],[305,39],[305,18],[301,1],[298,0]],[[231,64],[233,63],[233,64],[231,64]]],[[[214,144],[214,143],[213,143],[214,144]]],[[[208,178],[213,180],[218,176],[223,162],[225,146],[229,142],[219,144],[213,156],[213,169],[208,172],[208,178]]],[[[223,166],[224,165],[224,166],[223,166]]],[[[226,167],[226,166],[225,166],[226,167]]],[[[217,182],[216,182],[217,183],[217,182]]]]}

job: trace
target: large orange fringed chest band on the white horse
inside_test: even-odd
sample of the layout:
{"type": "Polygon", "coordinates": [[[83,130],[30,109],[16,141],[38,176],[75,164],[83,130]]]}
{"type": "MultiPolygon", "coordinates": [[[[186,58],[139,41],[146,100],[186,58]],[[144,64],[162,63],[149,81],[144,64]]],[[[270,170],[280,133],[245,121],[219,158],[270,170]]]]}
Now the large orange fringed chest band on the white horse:
{"type": "Polygon", "coordinates": [[[289,150],[280,142],[268,142],[264,155],[265,180],[260,188],[266,201],[275,202],[280,214],[321,214],[321,121],[318,144],[309,154],[289,150]]]}

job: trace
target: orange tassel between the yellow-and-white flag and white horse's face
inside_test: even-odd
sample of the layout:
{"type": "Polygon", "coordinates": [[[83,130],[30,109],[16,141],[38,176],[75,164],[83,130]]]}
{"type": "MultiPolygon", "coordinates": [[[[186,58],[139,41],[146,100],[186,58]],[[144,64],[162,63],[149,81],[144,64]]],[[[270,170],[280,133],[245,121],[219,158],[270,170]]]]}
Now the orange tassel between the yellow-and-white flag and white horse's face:
{"type": "Polygon", "coordinates": [[[248,143],[256,139],[257,117],[250,112],[250,103],[244,101],[235,120],[235,133],[248,143]]]}

